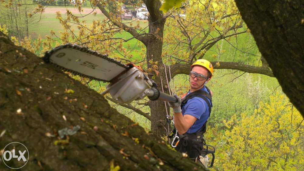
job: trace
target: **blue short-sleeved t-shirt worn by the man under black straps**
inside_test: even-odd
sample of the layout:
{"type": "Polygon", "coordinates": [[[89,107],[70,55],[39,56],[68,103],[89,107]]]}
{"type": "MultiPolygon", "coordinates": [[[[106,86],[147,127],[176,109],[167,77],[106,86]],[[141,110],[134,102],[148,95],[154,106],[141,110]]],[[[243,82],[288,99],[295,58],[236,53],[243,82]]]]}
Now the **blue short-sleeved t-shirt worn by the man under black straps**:
{"type": "MultiPolygon", "coordinates": [[[[204,86],[200,90],[206,91],[208,93],[207,88],[204,86]]],[[[190,93],[190,91],[187,93],[187,95],[190,93]]],[[[208,99],[208,98],[207,98],[208,99]]],[[[208,99],[209,101],[209,99],[208,99]]],[[[209,101],[210,102],[210,101],[209,101]]],[[[200,97],[194,97],[187,101],[187,103],[181,108],[181,113],[184,115],[191,115],[197,120],[194,122],[194,124],[188,129],[187,133],[192,134],[197,132],[204,123],[209,118],[209,107],[205,100],[203,100],[200,97]]]]}

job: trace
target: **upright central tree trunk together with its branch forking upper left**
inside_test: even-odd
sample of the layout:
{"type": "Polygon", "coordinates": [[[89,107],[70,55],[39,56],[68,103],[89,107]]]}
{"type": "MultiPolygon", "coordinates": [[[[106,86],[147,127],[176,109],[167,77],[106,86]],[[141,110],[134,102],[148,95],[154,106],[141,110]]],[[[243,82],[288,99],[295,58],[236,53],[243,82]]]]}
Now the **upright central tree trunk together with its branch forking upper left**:
{"type": "MultiPolygon", "coordinates": [[[[164,33],[164,23],[165,19],[163,18],[162,12],[159,11],[161,2],[159,0],[143,1],[147,5],[149,11],[149,33],[145,36],[139,36],[136,29],[131,28],[119,21],[112,20],[114,25],[123,28],[125,31],[129,32],[136,39],[144,43],[147,48],[147,67],[148,70],[154,70],[154,73],[157,73],[154,80],[158,85],[159,90],[161,90],[161,78],[163,84],[165,84],[165,74],[164,66],[162,63],[162,45],[163,45],[163,33],[164,33]],[[151,63],[150,63],[151,62],[151,63]],[[157,66],[157,67],[155,67],[157,66]]],[[[97,4],[98,8],[102,11],[105,16],[111,20],[112,13],[107,12],[105,8],[102,7],[102,4],[97,4]]],[[[153,73],[152,71],[150,74],[153,73]]],[[[149,77],[151,77],[149,75],[149,77]]],[[[164,91],[168,93],[168,87],[164,85],[164,91]]],[[[170,128],[168,128],[166,121],[166,108],[164,102],[160,101],[150,101],[149,103],[150,113],[151,113],[151,130],[156,133],[159,137],[164,137],[167,135],[170,128]]],[[[169,108],[168,108],[169,109],[169,108]]],[[[169,111],[169,110],[168,110],[169,111]]]]}

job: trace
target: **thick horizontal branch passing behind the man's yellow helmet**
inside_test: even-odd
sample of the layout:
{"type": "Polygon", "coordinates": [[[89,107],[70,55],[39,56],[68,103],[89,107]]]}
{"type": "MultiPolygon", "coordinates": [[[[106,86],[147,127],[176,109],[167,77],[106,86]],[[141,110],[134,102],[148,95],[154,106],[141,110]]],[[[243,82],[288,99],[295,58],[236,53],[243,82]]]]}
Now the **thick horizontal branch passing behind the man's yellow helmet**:
{"type": "MultiPolygon", "coordinates": [[[[240,70],[247,73],[254,74],[264,74],[269,77],[274,77],[272,71],[266,67],[256,67],[252,65],[245,65],[238,62],[218,62],[219,66],[216,65],[217,62],[211,62],[214,69],[231,69],[231,70],[240,70]]],[[[177,74],[189,74],[191,64],[185,63],[175,63],[170,67],[171,77],[174,77],[177,74]]]]}

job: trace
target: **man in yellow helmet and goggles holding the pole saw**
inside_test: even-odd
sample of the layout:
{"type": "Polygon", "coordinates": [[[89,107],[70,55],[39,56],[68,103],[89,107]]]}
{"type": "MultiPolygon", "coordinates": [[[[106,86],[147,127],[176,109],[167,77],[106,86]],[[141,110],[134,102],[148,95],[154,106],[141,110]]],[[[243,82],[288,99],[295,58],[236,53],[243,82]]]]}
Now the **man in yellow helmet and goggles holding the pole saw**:
{"type": "Polygon", "coordinates": [[[176,150],[187,152],[189,158],[195,161],[201,154],[203,134],[212,107],[211,92],[205,86],[212,74],[213,67],[209,61],[197,60],[190,68],[189,92],[182,96],[182,100],[175,95],[178,102],[169,103],[173,108],[174,125],[180,141],[176,150]]]}

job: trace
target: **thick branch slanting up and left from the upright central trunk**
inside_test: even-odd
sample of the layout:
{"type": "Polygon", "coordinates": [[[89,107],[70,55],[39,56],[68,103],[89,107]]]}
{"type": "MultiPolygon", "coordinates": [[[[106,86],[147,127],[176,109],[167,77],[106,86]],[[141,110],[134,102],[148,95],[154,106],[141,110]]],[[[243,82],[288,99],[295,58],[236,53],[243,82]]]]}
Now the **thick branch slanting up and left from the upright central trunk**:
{"type": "Polygon", "coordinates": [[[101,10],[101,12],[117,27],[122,28],[123,30],[125,30],[126,32],[129,32],[132,36],[134,36],[134,38],[138,39],[139,41],[141,41],[143,44],[147,43],[147,38],[145,36],[143,36],[142,34],[139,34],[136,29],[134,29],[133,27],[129,27],[126,24],[123,24],[122,22],[119,22],[117,20],[113,19],[113,16],[107,12],[107,10],[103,7],[102,4],[98,3],[97,7],[101,10]]]}

